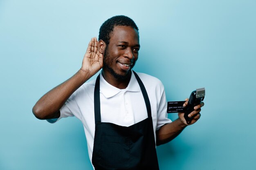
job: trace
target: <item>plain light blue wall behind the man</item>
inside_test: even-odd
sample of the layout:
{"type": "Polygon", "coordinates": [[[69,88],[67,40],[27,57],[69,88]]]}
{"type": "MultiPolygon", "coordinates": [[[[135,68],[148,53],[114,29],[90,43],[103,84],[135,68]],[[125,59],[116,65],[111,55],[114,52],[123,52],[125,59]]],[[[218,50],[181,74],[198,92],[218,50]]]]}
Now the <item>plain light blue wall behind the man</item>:
{"type": "Polygon", "coordinates": [[[81,122],[49,124],[31,109],[121,14],[139,27],[135,71],[159,78],[168,101],[206,89],[200,121],[157,147],[160,169],[255,170],[255,9],[255,0],[1,0],[0,170],[92,170],[81,122]]]}

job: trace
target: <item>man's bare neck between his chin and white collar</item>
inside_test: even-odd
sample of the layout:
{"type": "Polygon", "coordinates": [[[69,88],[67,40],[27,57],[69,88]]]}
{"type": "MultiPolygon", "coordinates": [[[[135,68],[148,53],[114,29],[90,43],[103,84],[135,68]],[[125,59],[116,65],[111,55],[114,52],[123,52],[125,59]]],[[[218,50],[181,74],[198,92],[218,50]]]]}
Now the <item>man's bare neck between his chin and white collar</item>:
{"type": "Polygon", "coordinates": [[[104,79],[112,86],[119,89],[125,89],[130,82],[132,74],[131,71],[129,71],[129,73],[125,77],[117,78],[114,75],[112,75],[112,73],[109,73],[108,71],[102,69],[102,75],[104,79]]]}

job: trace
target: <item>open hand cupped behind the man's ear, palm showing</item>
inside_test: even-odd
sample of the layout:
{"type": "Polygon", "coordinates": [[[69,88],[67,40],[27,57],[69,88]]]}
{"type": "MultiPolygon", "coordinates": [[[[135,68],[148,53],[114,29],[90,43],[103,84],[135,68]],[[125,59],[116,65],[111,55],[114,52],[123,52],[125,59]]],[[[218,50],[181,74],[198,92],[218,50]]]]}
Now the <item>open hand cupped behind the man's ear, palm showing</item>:
{"type": "Polygon", "coordinates": [[[91,76],[96,74],[103,67],[103,54],[98,51],[98,41],[94,37],[88,44],[83,57],[81,70],[88,72],[91,76]]]}

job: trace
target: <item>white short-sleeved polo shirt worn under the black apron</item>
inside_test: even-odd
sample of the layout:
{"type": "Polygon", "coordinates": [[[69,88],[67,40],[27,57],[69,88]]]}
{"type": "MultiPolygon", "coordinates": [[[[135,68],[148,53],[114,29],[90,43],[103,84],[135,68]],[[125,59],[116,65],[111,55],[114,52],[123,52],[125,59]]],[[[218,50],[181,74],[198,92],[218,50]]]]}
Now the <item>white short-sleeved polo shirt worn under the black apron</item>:
{"type": "MultiPolygon", "coordinates": [[[[164,86],[159,79],[153,76],[144,73],[137,74],[148,93],[153,119],[153,129],[155,132],[164,124],[171,123],[166,113],[167,102],[164,86]]],[[[95,81],[96,80],[93,80],[79,87],[60,109],[61,116],[57,119],[75,116],[82,121],[91,162],[95,132],[95,81]]],[[[126,89],[119,89],[110,85],[103,78],[102,73],[100,73],[100,101],[101,122],[109,122],[120,126],[131,126],[148,117],[141,89],[133,73],[126,89]]],[[[50,119],[47,121],[54,123],[57,120],[50,119]]]]}

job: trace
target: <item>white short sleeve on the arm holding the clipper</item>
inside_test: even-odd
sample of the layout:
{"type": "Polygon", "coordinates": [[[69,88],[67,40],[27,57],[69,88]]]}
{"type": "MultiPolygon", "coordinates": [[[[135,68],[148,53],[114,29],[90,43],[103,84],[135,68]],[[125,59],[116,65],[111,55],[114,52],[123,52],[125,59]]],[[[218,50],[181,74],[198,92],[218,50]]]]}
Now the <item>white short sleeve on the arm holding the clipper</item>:
{"type": "Polygon", "coordinates": [[[157,109],[157,129],[159,130],[159,128],[161,128],[163,125],[165,124],[169,124],[171,123],[171,119],[168,119],[168,115],[167,115],[167,101],[166,101],[166,95],[165,95],[165,91],[164,91],[164,85],[160,84],[160,102],[159,102],[159,106],[157,109]]]}

